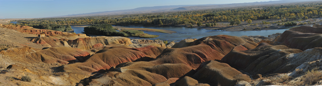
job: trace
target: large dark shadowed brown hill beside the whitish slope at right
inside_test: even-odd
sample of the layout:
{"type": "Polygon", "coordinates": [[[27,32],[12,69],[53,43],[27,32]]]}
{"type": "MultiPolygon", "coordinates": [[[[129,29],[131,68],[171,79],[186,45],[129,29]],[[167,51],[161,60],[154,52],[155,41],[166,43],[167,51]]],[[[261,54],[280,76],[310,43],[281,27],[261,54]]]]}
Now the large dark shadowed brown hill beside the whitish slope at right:
{"type": "Polygon", "coordinates": [[[292,59],[287,56],[299,52],[302,51],[284,45],[273,46],[267,43],[260,43],[251,50],[247,50],[243,46],[236,46],[220,62],[250,74],[287,73],[296,67],[289,65],[292,59]]]}

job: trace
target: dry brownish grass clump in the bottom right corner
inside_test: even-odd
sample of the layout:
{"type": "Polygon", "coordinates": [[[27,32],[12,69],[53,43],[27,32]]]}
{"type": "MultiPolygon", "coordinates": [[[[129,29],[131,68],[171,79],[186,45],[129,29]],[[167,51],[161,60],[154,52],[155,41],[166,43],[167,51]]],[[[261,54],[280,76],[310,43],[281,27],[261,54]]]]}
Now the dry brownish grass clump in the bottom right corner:
{"type": "Polygon", "coordinates": [[[304,81],[304,83],[308,83],[308,85],[313,85],[322,80],[322,73],[317,70],[318,68],[313,68],[312,70],[307,71],[301,80],[304,81]]]}

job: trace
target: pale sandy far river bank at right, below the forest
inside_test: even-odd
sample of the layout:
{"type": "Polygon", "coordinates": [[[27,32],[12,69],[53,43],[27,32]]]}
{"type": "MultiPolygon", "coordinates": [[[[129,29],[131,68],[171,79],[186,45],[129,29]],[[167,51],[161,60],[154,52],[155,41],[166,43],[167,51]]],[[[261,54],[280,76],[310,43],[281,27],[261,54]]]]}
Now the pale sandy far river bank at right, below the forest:
{"type": "MultiPolygon", "coordinates": [[[[164,25],[164,26],[173,26],[173,27],[188,27],[188,28],[199,28],[199,29],[211,29],[211,30],[224,30],[224,31],[257,31],[257,30],[276,30],[276,29],[285,29],[285,28],[291,28],[291,27],[284,27],[282,25],[278,25],[281,23],[272,23],[272,22],[278,22],[281,21],[281,19],[270,19],[270,20],[253,20],[252,23],[247,23],[247,21],[242,22],[239,25],[229,25],[230,22],[216,22],[217,25],[213,27],[205,27],[205,26],[196,26],[193,27],[186,26],[186,25],[164,25]],[[270,22],[270,24],[262,24],[264,22],[270,22]]],[[[205,23],[211,23],[211,22],[203,22],[205,23]]],[[[283,22],[286,23],[286,22],[283,22]]],[[[313,24],[321,24],[322,18],[312,18],[308,20],[302,20],[297,21],[298,25],[292,26],[292,27],[300,27],[300,26],[313,26],[313,24]],[[300,25],[300,23],[307,23],[304,25],[300,25]]]]}

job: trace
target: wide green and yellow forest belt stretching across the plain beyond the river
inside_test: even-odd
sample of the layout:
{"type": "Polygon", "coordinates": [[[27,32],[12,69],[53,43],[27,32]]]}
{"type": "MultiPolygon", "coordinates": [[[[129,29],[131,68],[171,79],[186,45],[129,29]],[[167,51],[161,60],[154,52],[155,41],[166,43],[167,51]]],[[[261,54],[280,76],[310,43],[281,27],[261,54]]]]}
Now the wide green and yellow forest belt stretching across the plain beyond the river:
{"type": "Polygon", "coordinates": [[[304,3],[275,6],[243,7],[231,9],[210,9],[185,12],[163,12],[111,16],[40,18],[17,20],[20,25],[58,24],[117,24],[117,25],[186,25],[216,26],[215,22],[228,21],[238,25],[240,21],[281,19],[281,22],[301,21],[308,18],[322,17],[322,3],[304,3]],[[207,23],[207,24],[202,24],[207,23]]]}

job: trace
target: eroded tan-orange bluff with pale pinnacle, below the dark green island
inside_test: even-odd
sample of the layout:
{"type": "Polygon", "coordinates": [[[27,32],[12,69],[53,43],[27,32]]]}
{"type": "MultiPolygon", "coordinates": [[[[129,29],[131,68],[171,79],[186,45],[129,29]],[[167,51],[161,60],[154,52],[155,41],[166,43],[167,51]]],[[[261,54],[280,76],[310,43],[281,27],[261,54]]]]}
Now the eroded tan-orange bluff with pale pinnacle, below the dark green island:
{"type": "Polygon", "coordinates": [[[120,36],[113,36],[113,37],[107,37],[107,36],[98,36],[98,37],[85,37],[81,38],[78,35],[75,35],[77,37],[73,37],[76,39],[68,39],[68,37],[71,38],[71,36],[63,37],[63,38],[57,38],[59,36],[53,35],[54,37],[36,37],[32,38],[30,41],[42,44],[46,47],[72,47],[72,48],[78,48],[81,50],[89,50],[93,48],[93,45],[97,43],[101,43],[103,45],[109,45],[109,44],[125,44],[130,45],[132,44],[130,42],[129,38],[126,37],[120,37],[120,36]]]}

